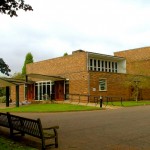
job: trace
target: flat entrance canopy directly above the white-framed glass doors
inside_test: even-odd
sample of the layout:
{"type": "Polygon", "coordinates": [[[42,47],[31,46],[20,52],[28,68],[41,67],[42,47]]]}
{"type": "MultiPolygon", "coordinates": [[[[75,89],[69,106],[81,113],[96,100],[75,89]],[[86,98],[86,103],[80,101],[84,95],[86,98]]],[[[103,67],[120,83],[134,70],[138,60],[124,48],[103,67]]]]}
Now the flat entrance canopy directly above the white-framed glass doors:
{"type": "Polygon", "coordinates": [[[27,77],[35,78],[35,79],[42,79],[42,80],[51,80],[51,81],[60,81],[66,80],[66,78],[60,76],[49,76],[49,75],[42,75],[42,74],[27,74],[27,77]]]}

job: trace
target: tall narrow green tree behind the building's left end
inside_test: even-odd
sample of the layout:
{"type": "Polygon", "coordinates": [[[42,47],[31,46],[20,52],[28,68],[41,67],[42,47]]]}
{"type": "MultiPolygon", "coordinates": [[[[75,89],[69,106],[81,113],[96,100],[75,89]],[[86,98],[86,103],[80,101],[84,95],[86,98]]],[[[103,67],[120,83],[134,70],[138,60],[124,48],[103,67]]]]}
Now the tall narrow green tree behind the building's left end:
{"type": "Polygon", "coordinates": [[[25,61],[24,61],[24,65],[22,68],[22,75],[26,74],[26,64],[30,64],[30,63],[33,63],[33,56],[31,53],[27,53],[25,61]]]}

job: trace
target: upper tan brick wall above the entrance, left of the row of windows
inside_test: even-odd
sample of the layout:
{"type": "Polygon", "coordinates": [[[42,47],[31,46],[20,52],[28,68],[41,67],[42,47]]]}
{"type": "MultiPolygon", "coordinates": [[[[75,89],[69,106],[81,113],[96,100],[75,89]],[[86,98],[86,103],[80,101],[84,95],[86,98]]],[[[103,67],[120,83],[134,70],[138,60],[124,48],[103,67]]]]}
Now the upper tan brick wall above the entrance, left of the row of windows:
{"type": "Polygon", "coordinates": [[[87,70],[87,53],[78,52],[72,55],[53,58],[27,65],[27,74],[64,75],[66,73],[84,72],[87,70]]]}

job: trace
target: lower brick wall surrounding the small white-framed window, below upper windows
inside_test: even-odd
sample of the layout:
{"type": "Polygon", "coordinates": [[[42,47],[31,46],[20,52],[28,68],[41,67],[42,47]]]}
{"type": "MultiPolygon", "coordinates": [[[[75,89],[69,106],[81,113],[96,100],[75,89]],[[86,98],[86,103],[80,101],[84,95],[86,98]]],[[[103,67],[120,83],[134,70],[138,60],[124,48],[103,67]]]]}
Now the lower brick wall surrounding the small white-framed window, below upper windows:
{"type": "Polygon", "coordinates": [[[123,96],[129,99],[129,88],[123,84],[125,78],[125,74],[91,72],[90,93],[99,96],[123,96]],[[99,80],[103,78],[107,81],[107,91],[99,91],[99,80]],[[96,88],[96,91],[93,91],[93,88],[96,88]]]}

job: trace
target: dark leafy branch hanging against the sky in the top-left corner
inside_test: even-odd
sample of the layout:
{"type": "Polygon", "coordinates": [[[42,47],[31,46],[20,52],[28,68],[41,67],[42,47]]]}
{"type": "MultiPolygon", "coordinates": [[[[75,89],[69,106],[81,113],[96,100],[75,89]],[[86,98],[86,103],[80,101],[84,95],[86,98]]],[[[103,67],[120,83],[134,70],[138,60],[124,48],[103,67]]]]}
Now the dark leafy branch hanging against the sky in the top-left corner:
{"type": "Polygon", "coordinates": [[[10,17],[18,16],[17,11],[22,9],[24,11],[33,10],[32,7],[24,3],[24,0],[0,0],[0,12],[2,14],[10,15],[10,17]]]}

